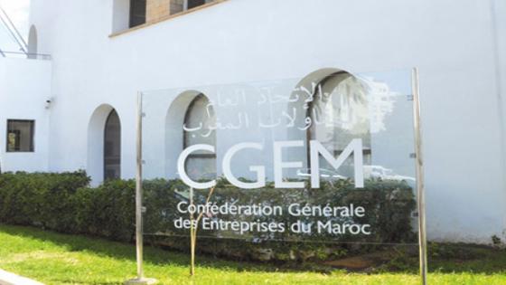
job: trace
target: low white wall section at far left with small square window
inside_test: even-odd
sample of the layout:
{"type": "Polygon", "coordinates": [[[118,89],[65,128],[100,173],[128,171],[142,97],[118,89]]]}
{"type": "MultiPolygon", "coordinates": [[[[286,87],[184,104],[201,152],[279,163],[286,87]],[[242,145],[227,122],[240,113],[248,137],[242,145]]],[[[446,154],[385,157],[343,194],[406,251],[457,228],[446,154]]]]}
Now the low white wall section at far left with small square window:
{"type": "Polygon", "coordinates": [[[0,166],[2,171],[47,171],[51,62],[0,57],[0,166]],[[34,152],[6,152],[7,119],[34,119],[34,152]]]}

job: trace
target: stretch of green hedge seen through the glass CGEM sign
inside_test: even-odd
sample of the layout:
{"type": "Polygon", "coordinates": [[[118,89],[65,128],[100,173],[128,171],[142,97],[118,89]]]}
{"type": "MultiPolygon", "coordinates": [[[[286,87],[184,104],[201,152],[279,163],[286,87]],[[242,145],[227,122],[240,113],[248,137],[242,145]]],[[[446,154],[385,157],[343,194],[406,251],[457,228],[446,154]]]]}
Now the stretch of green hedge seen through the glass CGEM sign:
{"type": "MultiPolygon", "coordinates": [[[[187,230],[175,229],[173,220],[180,217],[176,204],[181,201],[188,203],[189,191],[180,180],[146,181],[144,186],[145,233],[164,233],[167,235],[188,234],[187,230]]],[[[209,190],[194,190],[194,204],[205,204],[209,190]]],[[[280,205],[283,215],[250,215],[231,216],[220,215],[223,220],[241,220],[247,222],[275,222],[291,224],[297,220],[305,223],[315,223],[321,217],[295,217],[288,215],[289,204],[331,204],[331,205],[361,205],[365,208],[363,217],[342,217],[334,219],[334,223],[369,223],[374,226],[374,233],[369,236],[342,234],[338,237],[342,242],[413,242],[416,236],[411,229],[411,214],[416,203],[411,187],[405,182],[367,180],[365,186],[356,189],[351,181],[342,180],[334,184],[322,184],[319,189],[275,189],[274,185],[266,185],[259,189],[240,190],[228,184],[224,179],[218,181],[211,203],[220,204],[269,204],[280,205]]],[[[189,217],[185,217],[189,218],[189,217]]],[[[212,231],[201,232],[201,235],[215,236],[212,231]]],[[[222,237],[249,239],[254,241],[285,240],[298,242],[304,239],[320,242],[336,241],[336,236],[326,233],[312,234],[301,238],[300,234],[290,233],[258,233],[242,234],[220,232],[222,237]]]]}

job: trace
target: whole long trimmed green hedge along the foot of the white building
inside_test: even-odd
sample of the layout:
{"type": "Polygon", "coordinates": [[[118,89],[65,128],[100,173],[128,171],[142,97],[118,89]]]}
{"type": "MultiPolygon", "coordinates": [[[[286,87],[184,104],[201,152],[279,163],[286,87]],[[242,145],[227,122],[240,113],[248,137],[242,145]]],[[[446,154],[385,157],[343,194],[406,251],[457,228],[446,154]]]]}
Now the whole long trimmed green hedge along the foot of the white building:
{"type": "MultiPolygon", "coordinates": [[[[189,239],[177,236],[184,233],[171,229],[173,219],[179,216],[175,213],[175,204],[181,201],[177,193],[185,188],[180,180],[145,181],[145,233],[149,233],[146,241],[183,251],[188,249],[189,239]]],[[[199,203],[205,200],[207,191],[195,191],[194,195],[199,203]]],[[[416,242],[411,227],[411,214],[416,202],[411,187],[405,182],[368,180],[361,190],[355,190],[350,181],[338,181],[333,185],[323,184],[321,189],[274,189],[273,185],[267,185],[262,189],[238,191],[235,186],[220,179],[211,201],[219,204],[231,201],[243,204],[260,201],[268,204],[324,204],[328,201],[361,204],[371,214],[353,222],[374,224],[377,231],[368,237],[343,236],[341,241],[350,242],[351,238],[355,238],[353,241],[371,243],[416,242]]],[[[291,217],[262,219],[284,219],[289,223],[287,219],[291,217]]],[[[136,230],[135,181],[112,180],[98,187],[89,187],[89,177],[82,171],[1,174],[0,223],[32,225],[61,233],[89,234],[133,242],[136,230]]],[[[200,234],[204,235],[203,232],[200,234]]],[[[283,233],[275,238],[291,239],[293,236],[283,233]]],[[[330,238],[320,236],[319,239],[328,241],[330,238]]],[[[362,246],[360,251],[367,248],[362,246]]],[[[229,258],[261,261],[321,260],[354,251],[354,247],[348,244],[271,242],[262,236],[249,242],[201,238],[198,249],[229,258]]]]}

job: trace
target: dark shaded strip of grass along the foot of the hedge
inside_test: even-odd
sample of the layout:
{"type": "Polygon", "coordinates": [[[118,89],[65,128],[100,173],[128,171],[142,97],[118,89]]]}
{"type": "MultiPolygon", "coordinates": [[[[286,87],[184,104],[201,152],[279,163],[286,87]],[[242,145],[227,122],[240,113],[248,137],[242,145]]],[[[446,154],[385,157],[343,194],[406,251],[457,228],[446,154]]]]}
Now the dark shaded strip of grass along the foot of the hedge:
{"type": "MultiPolygon", "coordinates": [[[[0,232],[24,238],[52,242],[65,247],[70,252],[93,252],[98,256],[107,256],[118,260],[136,261],[134,244],[111,242],[98,237],[70,235],[65,233],[45,232],[41,229],[0,224],[0,232]]],[[[374,253],[376,254],[376,253],[374,253]]],[[[398,252],[398,256],[389,261],[367,269],[368,273],[405,272],[417,274],[417,258],[398,252]]],[[[366,257],[367,258],[367,257],[366,257]]],[[[165,251],[160,248],[145,246],[144,260],[155,265],[175,265],[186,267],[190,264],[188,253],[165,251]]],[[[506,251],[472,244],[430,243],[428,247],[429,272],[460,273],[473,272],[483,274],[506,273],[506,251]]],[[[250,261],[225,261],[211,256],[198,256],[199,267],[227,269],[232,271],[331,271],[330,267],[306,268],[272,263],[255,263],[250,261]]]]}

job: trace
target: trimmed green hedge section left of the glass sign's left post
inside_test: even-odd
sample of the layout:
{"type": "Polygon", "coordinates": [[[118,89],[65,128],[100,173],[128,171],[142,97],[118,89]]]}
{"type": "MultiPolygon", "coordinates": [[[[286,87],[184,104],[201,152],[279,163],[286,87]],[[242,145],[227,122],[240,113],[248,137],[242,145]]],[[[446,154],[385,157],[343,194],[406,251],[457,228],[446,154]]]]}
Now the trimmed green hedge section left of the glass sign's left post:
{"type": "Polygon", "coordinates": [[[90,188],[82,171],[0,175],[0,223],[129,242],[134,221],[134,181],[108,181],[90,188]]]}

